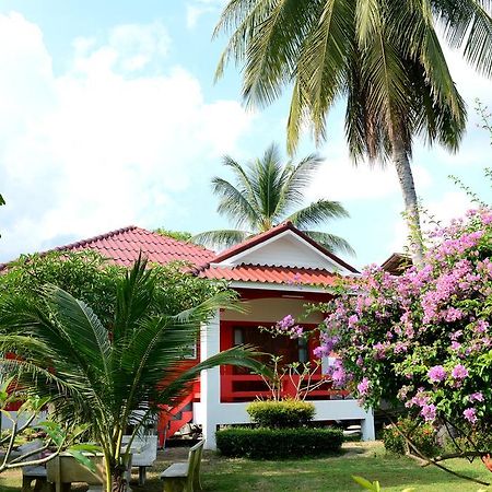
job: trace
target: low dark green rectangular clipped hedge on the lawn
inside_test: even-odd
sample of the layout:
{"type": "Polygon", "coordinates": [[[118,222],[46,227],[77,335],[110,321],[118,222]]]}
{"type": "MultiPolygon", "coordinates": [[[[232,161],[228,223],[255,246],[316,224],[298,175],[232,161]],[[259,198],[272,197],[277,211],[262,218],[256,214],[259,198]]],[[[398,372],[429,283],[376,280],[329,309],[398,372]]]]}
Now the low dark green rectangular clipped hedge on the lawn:
{"type": "Polygon", "coordinates": [[[216,432],[216,447],[224,456],[253,459],[300,458],[340,450],[340,429],[246,429],[216,432]]]}

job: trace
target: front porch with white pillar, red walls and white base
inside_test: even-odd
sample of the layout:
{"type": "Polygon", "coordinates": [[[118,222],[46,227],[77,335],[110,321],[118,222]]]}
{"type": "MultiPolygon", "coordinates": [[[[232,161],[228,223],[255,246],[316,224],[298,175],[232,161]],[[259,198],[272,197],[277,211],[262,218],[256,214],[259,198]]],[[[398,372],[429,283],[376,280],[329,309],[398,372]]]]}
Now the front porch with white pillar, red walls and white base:
{"type": "MultiPolygon", "coordinates": [[[[312,358],[315,341],[307,344],[293,343],[288,338],[272,338],[258,330],[258,326],[271,326],[286,314],[298,317],[304,313],[304,304],[309,295],[272,293],[262,295],[253,292],[242,293],[247,307],[246,313],[216,313],[211,323],[203,327],[200,339],[200,356],[204,360],[234,344],[251,343],[261,350],[277,353],[284,362],[307,362],[312,358]],[[269,295],[270,297],[266,297],[269,295]],[[291,343],[285,343],[286,341],[291,343]]],[[[312,296],[311,296],[312,297],[312,296]]],[[[326,294],[325,294],[326,297],[326,294]]],[[[305,324],[316,326],[321,315],[311,315],[305,324]]],[[[324,361],[324,365],[328,361],[324,361]]],[[[323,379],[321,368],[314,375],[315,382],[323,379]]],[[[296,379],[285,377],[282,386],[283,396],[293,396],[296,379]]],[[[202,426],[206,446],[215,448],[215,431],[219,425],[247,424],[250,422],[246,407],[257,397],[270,397],[268,386],[261,377],[245,370],[216,367],[202,372],[200,377],[200,401],[192,403],[194,423],[202,426]]],[[[328,423],[333,421],[360,421],[364,441],[374,440],[374,418],[372,411],[365,411],[352,399],[348,391],[333,389],[331,383],[319,386],[306,398],[316,408],[315,421],[328,423]]]]}

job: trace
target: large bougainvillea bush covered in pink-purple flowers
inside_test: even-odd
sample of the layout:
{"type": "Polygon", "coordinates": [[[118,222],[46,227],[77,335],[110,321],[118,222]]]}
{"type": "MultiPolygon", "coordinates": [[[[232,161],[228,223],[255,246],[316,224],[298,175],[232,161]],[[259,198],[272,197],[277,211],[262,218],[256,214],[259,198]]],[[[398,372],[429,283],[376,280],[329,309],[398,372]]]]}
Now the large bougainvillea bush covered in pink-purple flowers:
{"type": "Polygon", "coordinates": [[[371,267],[343,280],[324,306],[316,349],[339,355],[333,382],[367,406],[385,400],[426,422],[490,434],[491,256],[492,211],[481,209],[434,231],[423,266],[400,277],[371,267]]]}

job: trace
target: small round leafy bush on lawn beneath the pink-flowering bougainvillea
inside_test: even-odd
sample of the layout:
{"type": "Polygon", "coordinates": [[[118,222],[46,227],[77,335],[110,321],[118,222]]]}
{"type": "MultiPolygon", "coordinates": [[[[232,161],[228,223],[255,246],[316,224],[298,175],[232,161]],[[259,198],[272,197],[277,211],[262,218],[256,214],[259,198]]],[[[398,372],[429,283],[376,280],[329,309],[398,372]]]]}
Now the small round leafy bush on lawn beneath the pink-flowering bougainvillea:
{"type": "Polygon", "coordinates": [[[421,423],[415,426],[415,421],[412,419],[400,419],[396,425],[385,427],[383,442],[386,450],[397,455],[405,455],[407,453],[406,440],[396,426],[414,443],[419,452],[424,456],[432,457],[438,454],[440,447],[436,443],[434,427],[427,423],[421,423]]]}

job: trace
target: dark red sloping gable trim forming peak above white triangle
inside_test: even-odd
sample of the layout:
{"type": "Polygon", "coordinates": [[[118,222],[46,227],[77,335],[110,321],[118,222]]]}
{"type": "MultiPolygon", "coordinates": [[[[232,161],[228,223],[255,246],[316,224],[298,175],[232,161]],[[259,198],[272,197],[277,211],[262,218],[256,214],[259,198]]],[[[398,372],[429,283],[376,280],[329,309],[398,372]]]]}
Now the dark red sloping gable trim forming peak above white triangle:
{"type": "Polygon", "coordinates": [[[283,222],[279,225],[276,225],[272,229],[269,229],[268,231],[266,231],[261,234],[258,234],[249,239],[244,241],[243,243],[239,243],[235,246],[230,247],[229,249],[225,249],[224,251],[216,255],[215,258],[213,258],[213,262],[220,263],[221,261],[224,261],[233,256],[236,256],[239,253],[243,253],[243,251],[251,248],[253,246],[256,246],[260,243],[265,243],[266,241],[268,241],[274,236],[278,236],[279,234],[282,234],[285,231],[292,231],[293,233],[295,233],[296,235],[302,237],[304,241],[309,243],[318,251],[320,251],[323,255],[330,258],[336,263],[342,266],[343,268],[351,271],[352,273],[359,273],[359,271],[355,268],[353,268],[352,266],[350,266],[349,263],[347,263],[345,261],[340,259],[338,256],[328,251],[328,249],[324,248],[320,244],[316,243],[316,241],[312,239],[308,235],[306,235],[305,233],[300,231],[297,227],[295,227],[295,225],[293,225],[292,222],[283,222]]]}

